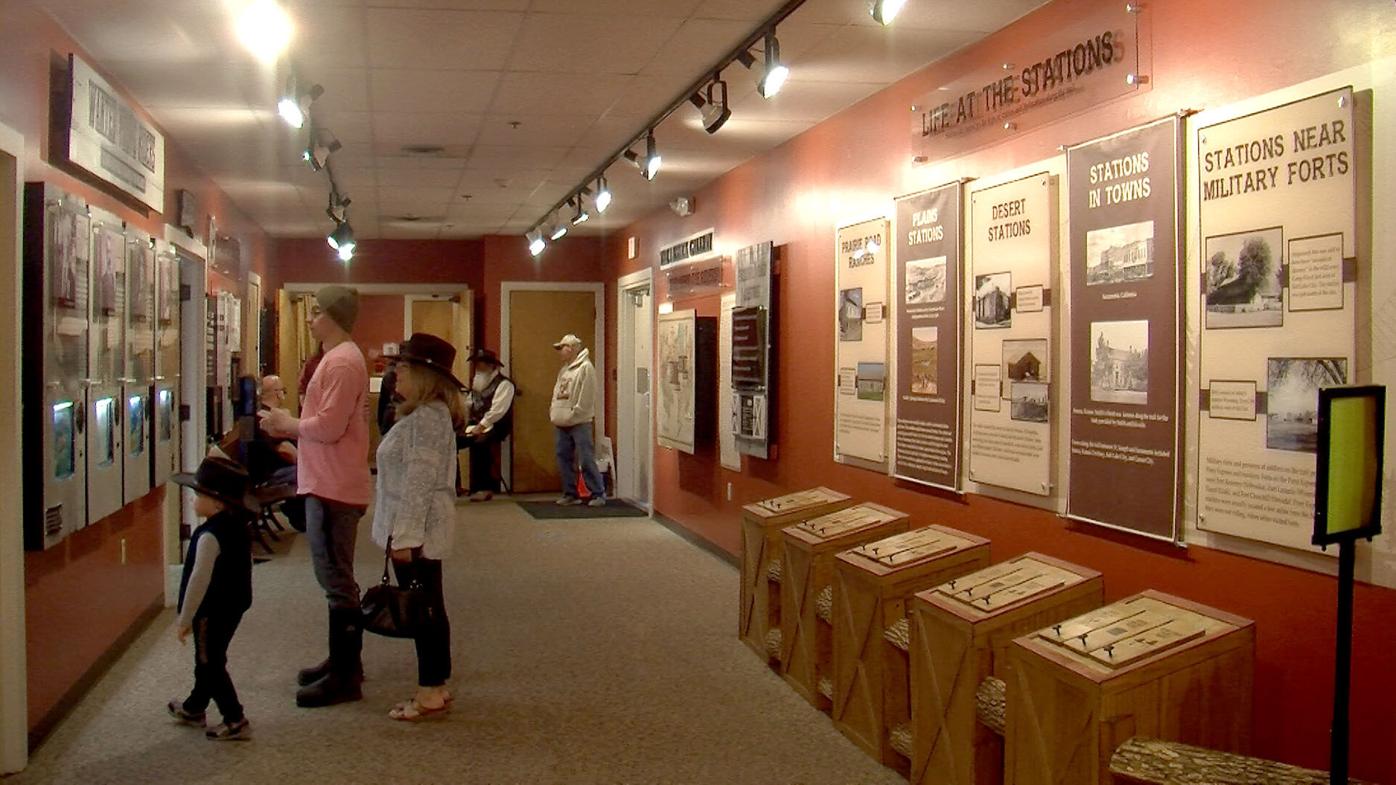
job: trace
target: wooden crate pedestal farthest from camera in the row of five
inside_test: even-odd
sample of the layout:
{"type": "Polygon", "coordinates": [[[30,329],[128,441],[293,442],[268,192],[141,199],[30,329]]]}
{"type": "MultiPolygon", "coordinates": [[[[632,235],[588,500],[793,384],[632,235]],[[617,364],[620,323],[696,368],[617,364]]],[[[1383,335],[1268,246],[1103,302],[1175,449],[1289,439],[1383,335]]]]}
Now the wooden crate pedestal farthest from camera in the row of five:
{"type": "Polygon", "coordinates": [[[828,487],[811,487],[755,501],[741,508],[741,599],[737,637],[751,651],[775,663],[768,637],[780,634],[780,585],[771,578],[780,563],[780,529],[853,504],[853,499],[828,487]]]}

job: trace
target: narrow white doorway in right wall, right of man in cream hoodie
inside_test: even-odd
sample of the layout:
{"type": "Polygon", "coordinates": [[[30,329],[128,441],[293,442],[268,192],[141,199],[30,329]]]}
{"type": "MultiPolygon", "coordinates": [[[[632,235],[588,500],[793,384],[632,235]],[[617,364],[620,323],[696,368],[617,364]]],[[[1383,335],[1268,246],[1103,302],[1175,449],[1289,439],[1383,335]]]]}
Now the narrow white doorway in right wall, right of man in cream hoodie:
{"type": "Polygon", "coordinates": [[[653,296],[649,270],[616,282],[616,496],[649,507],[653,482],[651,380],[653,296]]]}

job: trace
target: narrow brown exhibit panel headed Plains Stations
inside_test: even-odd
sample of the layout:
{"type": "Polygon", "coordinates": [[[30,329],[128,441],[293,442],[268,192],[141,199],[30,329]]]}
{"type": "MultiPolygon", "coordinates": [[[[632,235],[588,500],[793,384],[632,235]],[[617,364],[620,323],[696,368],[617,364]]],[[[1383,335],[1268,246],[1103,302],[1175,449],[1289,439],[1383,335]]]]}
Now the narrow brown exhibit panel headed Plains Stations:
{"type": "Polygon", "coordinates": [[[896,200],[892,475],[960,490],[960,183],[896,200]]]}

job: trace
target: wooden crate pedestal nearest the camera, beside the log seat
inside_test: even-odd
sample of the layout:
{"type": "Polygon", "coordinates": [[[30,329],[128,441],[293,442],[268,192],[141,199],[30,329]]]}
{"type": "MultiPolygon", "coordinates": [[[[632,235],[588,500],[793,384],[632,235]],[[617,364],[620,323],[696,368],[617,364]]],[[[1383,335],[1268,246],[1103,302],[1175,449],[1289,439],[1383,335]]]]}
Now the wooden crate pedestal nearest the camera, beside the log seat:
{"type": "Polygon", "coordinates": [[[1255,623],[1145,591],[1008,648],[1009,785],[1108,785],[1132,736],[1247,753],[1255,623]]]}

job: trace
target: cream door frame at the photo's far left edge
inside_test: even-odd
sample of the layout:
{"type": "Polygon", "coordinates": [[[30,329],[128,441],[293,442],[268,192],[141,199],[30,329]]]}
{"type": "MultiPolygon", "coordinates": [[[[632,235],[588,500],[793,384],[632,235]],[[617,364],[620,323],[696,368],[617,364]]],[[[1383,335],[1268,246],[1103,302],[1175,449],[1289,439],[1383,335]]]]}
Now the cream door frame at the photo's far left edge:
{"type": "MultiPolygon", "coordinates": [[[[13,221],[14,236],[6,242],[7,253],[13,253],[14,264],[0,277],[0,344],[11,346],[0,362],[0,374],[7,379],[21,377],[20,346],[22,268],[24,257],[21,236],[24,235],[24,135],[10,126],[0,124],[0,154],[14,158],[14,179],[6,179],[0,189],[13,189],[14,214],[4,217],[13,221]]],[[[0,265],[4,270],[4,265],[0,265]]],[[[0,500],[0,774],[22,770],[29,763],[29,697],[28,661],[25,654],[25,596],[24,596],[24,482],[22,482],[22,427],[20,412],[22,401],[18,386],[0,406],[0,482],[8,489],[0,500]]]]}

